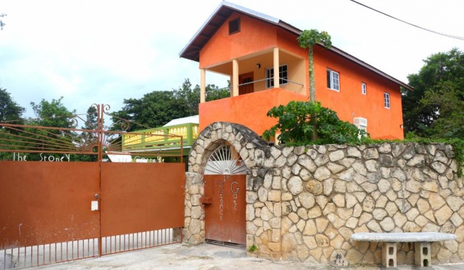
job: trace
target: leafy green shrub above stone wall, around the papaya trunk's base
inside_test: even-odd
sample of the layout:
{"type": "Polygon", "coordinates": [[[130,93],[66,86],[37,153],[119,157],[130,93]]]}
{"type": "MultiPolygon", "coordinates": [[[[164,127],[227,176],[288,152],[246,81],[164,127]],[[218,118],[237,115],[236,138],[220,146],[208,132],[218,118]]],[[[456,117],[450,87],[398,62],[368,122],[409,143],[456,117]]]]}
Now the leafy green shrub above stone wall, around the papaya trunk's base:
{"type": "Polygon", "coordinates": [[[286,145],[359,143],[367,135],[355,125],[340,120],[335,111],[322,107],[320,102],[290,101],[285,106],[272,108],[267,116],[278,118],[278,123],[264,132],[264,138],[269,141],[280,132],[278,140],[286,145]],[[316,140],[312,139],[314,116],[316,140]]]}

